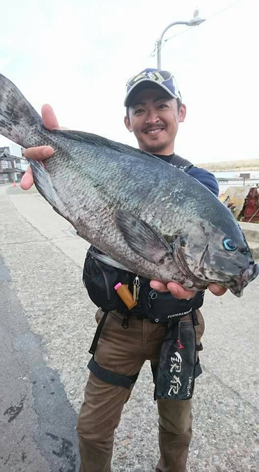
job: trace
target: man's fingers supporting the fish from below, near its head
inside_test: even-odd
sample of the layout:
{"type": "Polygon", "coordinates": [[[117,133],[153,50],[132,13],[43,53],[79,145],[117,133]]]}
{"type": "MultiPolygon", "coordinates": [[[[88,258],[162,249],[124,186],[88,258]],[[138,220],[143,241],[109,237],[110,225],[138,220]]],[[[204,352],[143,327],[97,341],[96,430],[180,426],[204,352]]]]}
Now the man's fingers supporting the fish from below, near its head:
{"type": "MultiPolygon", "coordinates": [[[[176,282],[168,282],[168,284],[163,284],[158,280],[152,280],[150,286],[157,290],[157,292],[167,292],[169,291],[175,298],[193,298],[196,295],[196,292],[193,290],[185,290],[180,284],[176,282]]],[[[227,292],[225,287],[219,284],[210,284],[208,289],[212,294],[220,296],[224,295],[227,292]]]]}

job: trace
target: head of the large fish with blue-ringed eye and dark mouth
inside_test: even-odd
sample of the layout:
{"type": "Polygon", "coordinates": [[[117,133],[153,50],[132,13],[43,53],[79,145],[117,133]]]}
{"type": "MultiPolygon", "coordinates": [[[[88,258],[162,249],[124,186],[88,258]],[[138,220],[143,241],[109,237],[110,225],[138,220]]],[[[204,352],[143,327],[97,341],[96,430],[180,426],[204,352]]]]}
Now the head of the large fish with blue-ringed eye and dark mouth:
{"type": "Polygon", "coordinates": [[[173,249],[181,270],[198,287],[217,283],[239,297],[259,274],[259,265],[235,221],[227,231],[200,221],[175,239],[173,249]]]}

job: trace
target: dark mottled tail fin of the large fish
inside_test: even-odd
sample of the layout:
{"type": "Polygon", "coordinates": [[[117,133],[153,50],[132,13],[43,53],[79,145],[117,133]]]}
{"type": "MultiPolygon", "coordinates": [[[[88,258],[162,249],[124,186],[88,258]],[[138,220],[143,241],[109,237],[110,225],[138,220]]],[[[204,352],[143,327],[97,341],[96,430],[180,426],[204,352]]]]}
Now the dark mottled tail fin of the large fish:
{"type": "Polygon", "coordinates": [[[24,146],[26,130],[41,117],[19,89],[0,74],[0,134],[24,146]]]}

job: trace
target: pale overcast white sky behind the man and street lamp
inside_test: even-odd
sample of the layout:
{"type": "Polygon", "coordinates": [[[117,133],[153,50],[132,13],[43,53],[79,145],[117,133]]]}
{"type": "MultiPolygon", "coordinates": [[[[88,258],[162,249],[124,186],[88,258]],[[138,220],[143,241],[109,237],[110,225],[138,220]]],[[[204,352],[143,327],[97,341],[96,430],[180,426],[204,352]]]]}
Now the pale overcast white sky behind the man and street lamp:
{"type": "Polygon", "coordinates": [[[161,50],[187,107],[175,151],[195,164],[259,158],[256,0],[9,0],[0,73],[39,113],[50,103],[60,125],[137,147],[123,121],[126,82],[156,67],[156,39],[197,7],[207,20],[170,28],[161,50]]]}

